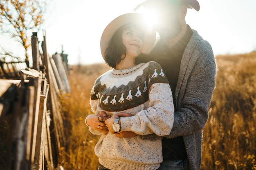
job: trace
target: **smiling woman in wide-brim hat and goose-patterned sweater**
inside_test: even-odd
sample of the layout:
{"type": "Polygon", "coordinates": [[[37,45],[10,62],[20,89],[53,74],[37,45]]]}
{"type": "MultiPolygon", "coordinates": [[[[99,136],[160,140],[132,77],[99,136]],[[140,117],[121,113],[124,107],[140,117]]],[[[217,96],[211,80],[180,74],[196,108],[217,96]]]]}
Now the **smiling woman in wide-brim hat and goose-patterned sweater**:
{"type": "Polygon", "coordinates": [[[94,149],[99,170],[156,170],[162,162],[161,138],[145,140],[141,135],[169,135],[173,126],[173,98],[161,66],[135,63],[155,42],[155,32],[143,21],[139,13],[121,15],[101,37],[103,59],[113,69],[95,81],[90,99],[95,115],[85,119],[91,133],[101,135],[94,149]],[[100,111],[108,117],[98,116],[100,111]],[[118,137],[124,131],[137,135],[118,137]]]}

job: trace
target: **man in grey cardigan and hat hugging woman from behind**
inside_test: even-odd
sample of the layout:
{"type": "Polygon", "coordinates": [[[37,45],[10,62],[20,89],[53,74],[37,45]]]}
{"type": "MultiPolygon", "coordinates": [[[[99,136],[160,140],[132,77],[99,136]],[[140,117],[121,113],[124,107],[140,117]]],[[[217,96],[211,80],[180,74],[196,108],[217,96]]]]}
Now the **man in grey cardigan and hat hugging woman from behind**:
{"type": "Polygon", "coordinates": [[[162,66],[175,106],[173,129],[162,139],[164,162],[159,170],[198,170],[202,129],[209,116],[216,76],[211,45],[185,21],[187,8],[199,11],[199,3],[197,0],[146,0],[135,10],[141,6],[157,12],[160,39],[150,56],[140,56],[138,62],[156,61],[162,66]]]}

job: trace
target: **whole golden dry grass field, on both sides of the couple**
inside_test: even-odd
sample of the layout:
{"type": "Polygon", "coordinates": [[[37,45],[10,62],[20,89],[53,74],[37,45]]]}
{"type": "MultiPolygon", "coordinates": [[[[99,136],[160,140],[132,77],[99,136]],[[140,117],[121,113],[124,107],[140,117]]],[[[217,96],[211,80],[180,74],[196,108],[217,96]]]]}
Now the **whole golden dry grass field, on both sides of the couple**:
{"type": "MultiPolygon", "coordinates": [[[[256,170],[256,52],[216,56],[216,89],[204,127],[202,170],[256,170]]],[[[90,110],[90,90],[106,64],[72,66],[71,94],[63,96],[67,147],[59,165],[65,170],[96,170],[94,146],[84,120],[90,110]]]]}

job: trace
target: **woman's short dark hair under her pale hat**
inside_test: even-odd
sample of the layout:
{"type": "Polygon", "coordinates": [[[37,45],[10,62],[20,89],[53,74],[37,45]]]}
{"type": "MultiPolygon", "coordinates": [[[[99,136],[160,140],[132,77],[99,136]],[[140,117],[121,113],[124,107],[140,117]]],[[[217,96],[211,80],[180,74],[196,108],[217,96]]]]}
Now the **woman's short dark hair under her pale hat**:
{"type": "Polygon", "coordinates": [[[116,65],[126,57],[126,47],[124,46],[122,41],[122,33],[125,29],[129,28],[130,26],[136,25],[126,24],[124,26],[121,26],[115,32],[112,39],[110,40],[110,43],[108,44],[108,47],[105,52],[105,61],[112,68],[115,68],[116,65]],[[122,54],[124,54],[123,59],[121,58],[122,54]]]}

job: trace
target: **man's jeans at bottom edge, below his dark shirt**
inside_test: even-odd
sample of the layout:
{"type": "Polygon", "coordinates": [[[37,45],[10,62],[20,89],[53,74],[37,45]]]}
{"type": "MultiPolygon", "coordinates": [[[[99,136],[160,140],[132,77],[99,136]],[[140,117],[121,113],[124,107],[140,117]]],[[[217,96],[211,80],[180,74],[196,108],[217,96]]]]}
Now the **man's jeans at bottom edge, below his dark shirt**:
{"type": "Polygon", "coordinates": [[[185,160],[163,161],[160,163],[159,170],[184,170],[185,160]]]}

